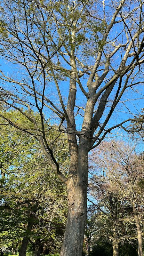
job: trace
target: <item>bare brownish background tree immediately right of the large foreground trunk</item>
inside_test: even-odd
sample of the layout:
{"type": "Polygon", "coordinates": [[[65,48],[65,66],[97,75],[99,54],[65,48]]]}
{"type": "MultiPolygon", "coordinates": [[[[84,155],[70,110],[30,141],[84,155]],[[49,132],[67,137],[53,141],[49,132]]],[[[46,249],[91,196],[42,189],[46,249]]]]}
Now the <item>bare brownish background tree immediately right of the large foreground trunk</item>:
{"type": "Polygon", "coordinates": [[[108,158],[109,147],[103,142],[90,156],[88,201],[92,204],[91,211],[97,212],[97,221],[101,221],[100,232],[95,239],[106,238],[112,242],[113,256],[118,256],[119,243],[128,238],[125,217],[129,218],[129,211],[126,211],[127,204],[123,203],[124,198],[113,173],[117,172],[117,163],[108,158]],[[126,216],[124,212],[127,212],[126,216]]]}

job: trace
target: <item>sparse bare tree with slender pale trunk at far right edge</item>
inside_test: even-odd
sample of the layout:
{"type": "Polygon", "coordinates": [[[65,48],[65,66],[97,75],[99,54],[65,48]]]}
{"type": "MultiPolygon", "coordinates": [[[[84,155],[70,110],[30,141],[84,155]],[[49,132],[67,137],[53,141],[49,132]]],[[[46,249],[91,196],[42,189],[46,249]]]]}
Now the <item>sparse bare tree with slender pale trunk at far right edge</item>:
{"type": "Polygon", "coordinates": [[[143,157],[141,155],[138,156],[134,152],[134,146],[130,146],[129,150],[126,147],[122,147],[120,149],[119,147],[116,147],[116,149],[119,161],[124,167],[123,172],[121,171],[121,178],[119,179],[119,183],[121,183],[121,189],[123,189],[122,191],[124,191],[124,194],[127,197],[126,199],[128,199],[132,205],[133,216],[137,228],[138,253],[139,256],[142,256],[143,250],[140,215],[143,212],[144,200],[142,196],[143,192],[139,183],[144,178],[143,157]],[[124,178],[122,178],[122,176],[124,178]]]}

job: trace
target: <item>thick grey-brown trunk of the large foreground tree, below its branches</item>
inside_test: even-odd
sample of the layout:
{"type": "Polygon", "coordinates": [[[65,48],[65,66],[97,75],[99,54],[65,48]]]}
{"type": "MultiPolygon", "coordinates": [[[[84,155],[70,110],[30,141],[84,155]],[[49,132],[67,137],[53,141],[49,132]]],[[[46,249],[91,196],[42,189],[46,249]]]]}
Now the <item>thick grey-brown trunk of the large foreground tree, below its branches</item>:
{"type": "MultiPolygon", "coordinates": [[[[83,145],[83,144],[82,144],[83,145]]],[[[77,179],[68,181],[68,218],[60,256],[81,256],[87,212],[88,152],[79,146],[77,179]]]]}

